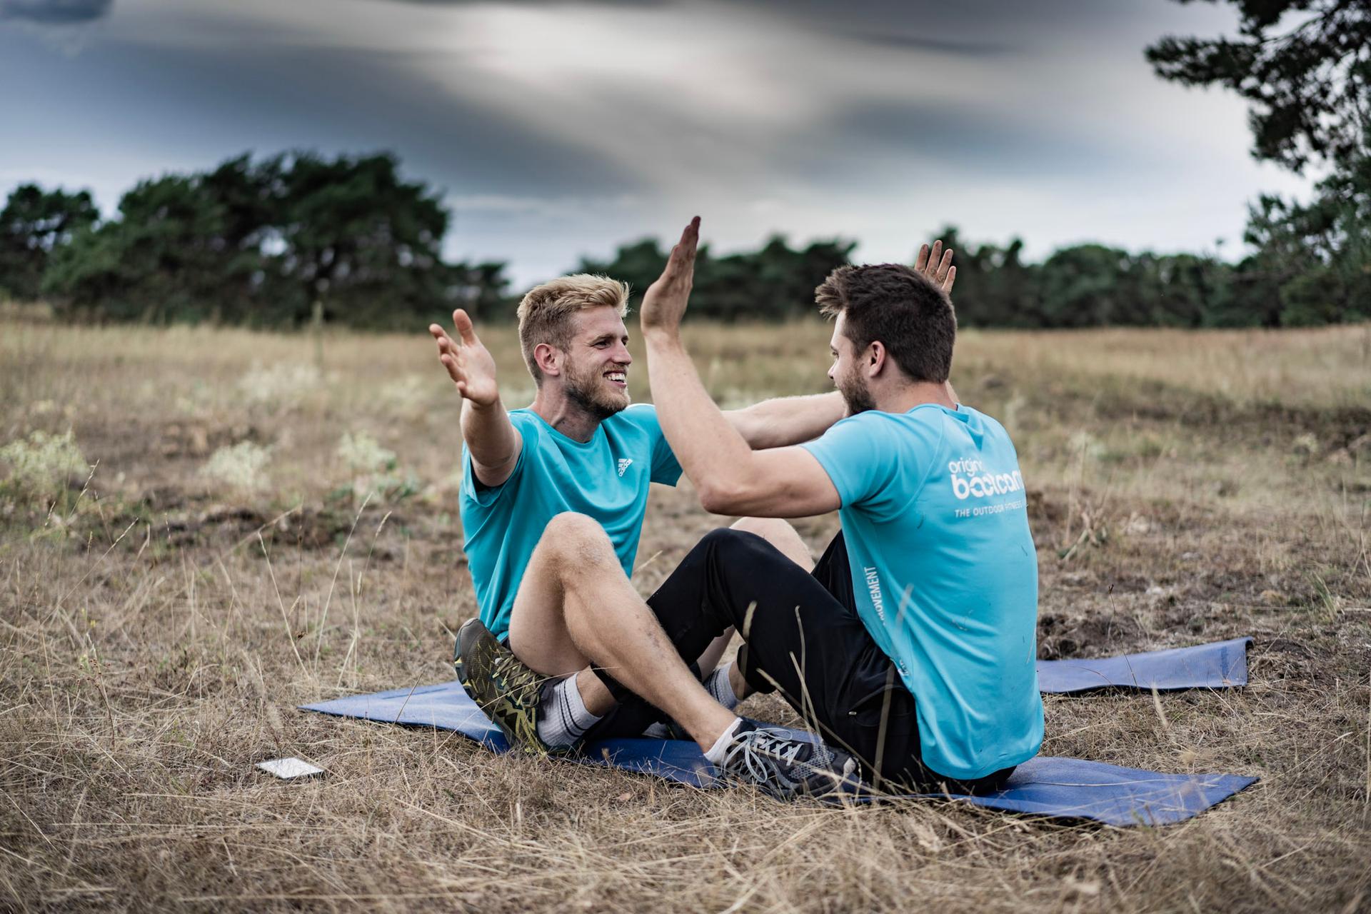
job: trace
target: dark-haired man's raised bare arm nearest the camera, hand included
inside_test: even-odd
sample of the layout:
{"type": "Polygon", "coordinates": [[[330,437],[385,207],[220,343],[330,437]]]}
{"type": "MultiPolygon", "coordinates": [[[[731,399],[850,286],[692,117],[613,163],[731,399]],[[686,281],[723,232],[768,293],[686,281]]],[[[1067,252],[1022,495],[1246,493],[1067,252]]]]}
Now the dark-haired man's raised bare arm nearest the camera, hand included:
{"type": "Polygon", "coordinates": [[[838,508],[838,491],[809,451],[753,451],[709,399],[680,338],[698,241],[695,218],[672,248],[666,270],[643,296],[647,374],[666,441],[707,511],[809,517],[838,508]]]}

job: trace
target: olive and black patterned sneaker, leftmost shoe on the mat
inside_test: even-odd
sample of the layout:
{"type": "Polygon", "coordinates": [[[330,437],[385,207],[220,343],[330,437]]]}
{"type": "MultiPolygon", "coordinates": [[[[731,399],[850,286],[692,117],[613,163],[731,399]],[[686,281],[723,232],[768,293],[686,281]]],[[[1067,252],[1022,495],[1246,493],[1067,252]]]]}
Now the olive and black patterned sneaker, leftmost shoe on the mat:
{"type": "Polygon", "coordinates": [[[537,708],[548,678],[514,656],[480,619],[470,619],[457,630],[452,654],[462,688],[500,728],[511,750],[566,755],[580,748],[579,743],[551,747],[537,736],[537,708]]]}

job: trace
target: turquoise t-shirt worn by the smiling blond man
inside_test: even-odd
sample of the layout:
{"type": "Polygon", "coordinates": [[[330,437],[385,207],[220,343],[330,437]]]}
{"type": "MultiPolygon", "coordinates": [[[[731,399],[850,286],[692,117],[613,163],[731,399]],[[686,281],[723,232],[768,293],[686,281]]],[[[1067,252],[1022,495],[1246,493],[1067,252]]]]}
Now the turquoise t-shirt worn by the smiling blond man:
{"type": "Polygon", "coordinates": [[[472,455],[462,447],[463,549],[481,622],[495,637],[509,632],[524,569],[554,515],[576,511],[599,521],[631,576],[648,482],[676,485],[681,474],[657,408],[646,403],[609,417],[585,443],[566,437],[532,410],[511,410],[510,422],[524,447],[503,484],[477,486],[472,455]]]}

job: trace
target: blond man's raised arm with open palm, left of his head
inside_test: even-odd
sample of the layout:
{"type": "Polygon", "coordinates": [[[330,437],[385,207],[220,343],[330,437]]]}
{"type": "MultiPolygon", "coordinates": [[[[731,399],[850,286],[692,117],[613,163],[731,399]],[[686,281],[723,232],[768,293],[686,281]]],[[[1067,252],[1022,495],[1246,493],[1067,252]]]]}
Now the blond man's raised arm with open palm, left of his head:
{"type": "Polygon", "coordinates": [[[524,439],[510,422],[495,384],[495,359],[476,336],[472,318],[458,308],[452,325],[457,343],[436,323],[429,333],[437,341],[437,358],[462,395],[462,439],[472,455],[472,471],[483,485],[500,485],[514,471],[524,439]]]}

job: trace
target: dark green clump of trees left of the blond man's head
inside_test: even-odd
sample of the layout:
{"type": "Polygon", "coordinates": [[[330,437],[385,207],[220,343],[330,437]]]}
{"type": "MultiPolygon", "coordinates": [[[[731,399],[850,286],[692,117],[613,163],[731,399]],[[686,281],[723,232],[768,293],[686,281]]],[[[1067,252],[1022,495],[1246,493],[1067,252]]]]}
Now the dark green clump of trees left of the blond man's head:
{"type": "Polygon", "coordinates": [[[59,315],[152,323],[413,328],[452,307],[496,310],[502,263],[448,263],[451,214],[395,156],[228,159],[126,192],[16,188],[0,211],[0,291],[59,315]]]}

